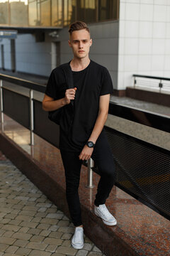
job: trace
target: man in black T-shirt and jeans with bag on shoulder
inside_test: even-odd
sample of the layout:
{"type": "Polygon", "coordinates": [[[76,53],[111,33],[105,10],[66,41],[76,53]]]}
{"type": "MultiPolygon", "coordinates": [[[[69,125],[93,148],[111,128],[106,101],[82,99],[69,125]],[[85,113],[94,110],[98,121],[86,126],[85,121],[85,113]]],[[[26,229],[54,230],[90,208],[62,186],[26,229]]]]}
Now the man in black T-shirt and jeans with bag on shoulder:
{"type": "Polygon", "coordinates": [[[106,225],[117,223],[105,205],[115,182],[113,155],[103,129],[113,85],[108,70],[90,60],[91,44],[86,23],[77,21],[69,26],[69,47],[74,55],[69,62],[69,68],[72,69],[74,88],[68,89],[62,68],[55,68],[47,82],[42,101],[45,111],[61,107],[63,110],[60,119],[60,152],[66,176],[67,203],[76,227],[72,238],[72,246],[76,249],[84,247],[78,193],[81,164],[84,159],[94,159],[101,173],[94,201],[94,213],[106,225]],[[71,111],[72,102],[74,108],[71,111]],[[73,112],[72,122],[69,120],[70,111],[73,112]]]}

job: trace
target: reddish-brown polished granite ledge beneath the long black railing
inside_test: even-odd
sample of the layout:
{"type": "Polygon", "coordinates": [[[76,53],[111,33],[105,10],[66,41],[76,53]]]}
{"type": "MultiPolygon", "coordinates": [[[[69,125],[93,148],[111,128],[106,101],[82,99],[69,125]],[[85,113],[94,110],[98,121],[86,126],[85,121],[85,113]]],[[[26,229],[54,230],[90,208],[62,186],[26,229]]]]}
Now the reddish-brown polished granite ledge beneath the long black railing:
{"type": "MultiPolygon", "coordinates": [[[[64,170],[58,149],[36,137],[33,156],[30,156],[5,134],[0,134],[0,150],[69,217],[64,170]]],[[[118,225],[106,226],[94,215],[98,180],[99,176],[94,174],[95,187],[86,188],[87,171],[82,166],[79,194],[84,230],[103,253],[108,256],[170,255],[169,220],[119,188],[113,188],[106,203],[118,225]]]]}

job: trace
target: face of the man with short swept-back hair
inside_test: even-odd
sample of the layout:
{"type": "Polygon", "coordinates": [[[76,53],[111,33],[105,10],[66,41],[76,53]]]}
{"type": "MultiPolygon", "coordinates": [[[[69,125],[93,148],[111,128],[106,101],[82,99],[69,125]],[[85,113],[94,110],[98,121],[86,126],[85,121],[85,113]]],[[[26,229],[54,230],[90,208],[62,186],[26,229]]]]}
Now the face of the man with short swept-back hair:
{"type": "Polygon", "coordinates": [[[86,58],[86,56],[89,56],[91,44],[92,39],[86,29],[73,31],[69,39],[69,46],[72,48],[76,58],[86,58]]]}

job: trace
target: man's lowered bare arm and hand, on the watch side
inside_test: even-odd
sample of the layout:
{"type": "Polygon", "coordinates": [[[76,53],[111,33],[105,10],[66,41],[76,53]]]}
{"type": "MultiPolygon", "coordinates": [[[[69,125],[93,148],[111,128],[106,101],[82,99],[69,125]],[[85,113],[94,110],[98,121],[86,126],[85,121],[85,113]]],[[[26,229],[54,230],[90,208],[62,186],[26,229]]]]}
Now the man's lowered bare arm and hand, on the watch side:
{"type": "MultiPolygon", "coordinates": [[[[98,139],[98,136],[101,134],[103,126],[106,123],[106,119],[108,117],[109,101],[110,94],[100,96],[98,117],[96,119],[94,129],[91,132],[91,136],[89,137],[89,141],[94,142],[94,144],[96,143],[96,140],[98,139]]],[[[89,148],[89,146],[85,145],[81,151],[81,154],[79,155],[79,159],[90,159],[93,151],[94,148],[89,148]]]]}

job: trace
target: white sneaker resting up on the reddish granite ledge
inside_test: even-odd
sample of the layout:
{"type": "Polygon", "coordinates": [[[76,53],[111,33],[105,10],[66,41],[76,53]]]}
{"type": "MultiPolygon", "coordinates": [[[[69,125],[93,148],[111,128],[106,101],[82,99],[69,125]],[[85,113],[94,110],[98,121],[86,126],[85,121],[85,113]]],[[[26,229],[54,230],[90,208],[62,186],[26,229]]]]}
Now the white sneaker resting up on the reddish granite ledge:
{"type": "Polygon", "coordinates": [[[94,206],[94,213],[98,216],[101,217],[103,220],[103,223],[106,225],[116,225],[117,220],[109,213],[107,207],[105,204],[100,205],[100,206],[94,206]]]}

